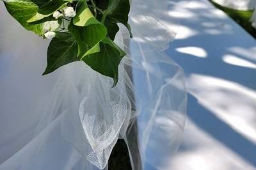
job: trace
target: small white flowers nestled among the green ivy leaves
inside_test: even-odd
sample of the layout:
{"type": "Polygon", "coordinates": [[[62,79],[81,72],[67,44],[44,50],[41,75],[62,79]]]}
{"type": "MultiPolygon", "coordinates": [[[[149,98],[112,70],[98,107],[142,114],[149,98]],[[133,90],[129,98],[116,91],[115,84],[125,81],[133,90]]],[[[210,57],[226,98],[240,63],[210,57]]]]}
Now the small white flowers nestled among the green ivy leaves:
{"type": "MultiPolygon", "coordinates": [[[[76,16],[76,12],[74,10],[74,8],[70,7],[70,6],[66,6],[65,8],[63,8],[63,10],[60,11],[56,11],[52,14],[52,16],[55,19],[59,19],[61,17],[70,17],[73,18],[76,16]]],[[[45,38],[47,39],[52,39],[56,36],[56,33],[54,31],[50,31],[50,30],[45,30],[45,34],[44,34],[45,38]]]]}

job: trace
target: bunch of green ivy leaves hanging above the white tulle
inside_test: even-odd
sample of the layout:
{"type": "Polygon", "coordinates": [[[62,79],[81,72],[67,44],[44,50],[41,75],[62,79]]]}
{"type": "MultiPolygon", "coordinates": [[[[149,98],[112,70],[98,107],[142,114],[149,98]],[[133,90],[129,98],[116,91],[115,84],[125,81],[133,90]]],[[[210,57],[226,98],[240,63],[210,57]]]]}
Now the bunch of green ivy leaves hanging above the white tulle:
{"type": "Polygon", "coordinates": [[[132,37],[129,0],[12,0],[4,4],[25,29],[44,38],[55,36],[48,47],[44,75],[68,63],[83,61],[113,78],[116,85],[118,65],[126,54],[113,40],[119,30],[117,23],[124,24],[132,37]],[[76,11],[73,18],[67,15],[67,8],[76,11]]]}

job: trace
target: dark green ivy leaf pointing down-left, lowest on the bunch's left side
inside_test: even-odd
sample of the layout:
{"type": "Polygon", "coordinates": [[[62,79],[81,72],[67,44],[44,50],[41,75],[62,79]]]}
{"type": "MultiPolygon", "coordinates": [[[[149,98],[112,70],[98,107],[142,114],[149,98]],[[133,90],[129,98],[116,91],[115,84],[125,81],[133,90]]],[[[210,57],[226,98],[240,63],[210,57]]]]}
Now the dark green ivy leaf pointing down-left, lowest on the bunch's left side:
{"type": "Polygon", "coordinates": [[[77,48],[77,43],[70,33],[56,33],[48,47],[47,68],[43,75],[51,73],[68,63],[79,61],[77,48]]]}

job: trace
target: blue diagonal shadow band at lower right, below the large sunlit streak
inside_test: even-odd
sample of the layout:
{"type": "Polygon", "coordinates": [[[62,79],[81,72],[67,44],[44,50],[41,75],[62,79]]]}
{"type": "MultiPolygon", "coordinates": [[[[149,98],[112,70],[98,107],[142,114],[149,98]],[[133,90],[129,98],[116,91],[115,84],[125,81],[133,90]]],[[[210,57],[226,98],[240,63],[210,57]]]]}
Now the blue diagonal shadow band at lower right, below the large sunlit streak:
{"type": "Polygon", "coordinates": [[[198,100],[192,95],[189,95],[188,107],[191,108],[189,109],[191,111],[189,112],[191,113],[189,118],[196,125],[256,166],[256,147],[254,143],[228,126],[225,120],[211,114],[211,111],[207,110],[204,105],[198,104],[198,100]]]}

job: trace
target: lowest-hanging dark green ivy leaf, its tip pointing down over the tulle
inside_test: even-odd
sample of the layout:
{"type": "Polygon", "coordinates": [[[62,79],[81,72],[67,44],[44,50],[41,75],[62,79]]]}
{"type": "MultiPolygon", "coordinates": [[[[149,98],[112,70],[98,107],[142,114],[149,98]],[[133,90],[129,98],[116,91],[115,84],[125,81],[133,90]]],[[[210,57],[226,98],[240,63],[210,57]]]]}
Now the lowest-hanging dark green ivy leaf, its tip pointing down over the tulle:
{"type": "Polygon", "coordinates": [[[83,61],[93,70],[113,78],[114,87],[118,82],[118,65],[125,55],[125,52],[120,47],[106,37],[100,42],[100,52],[84,57],[83,61]]]}

